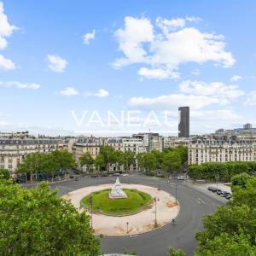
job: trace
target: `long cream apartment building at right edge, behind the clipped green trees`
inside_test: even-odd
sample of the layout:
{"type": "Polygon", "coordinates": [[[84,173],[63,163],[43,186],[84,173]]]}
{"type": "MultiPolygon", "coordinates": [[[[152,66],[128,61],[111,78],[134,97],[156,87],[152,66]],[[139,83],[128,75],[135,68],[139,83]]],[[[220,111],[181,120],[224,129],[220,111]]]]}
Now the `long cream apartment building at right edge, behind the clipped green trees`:
{"type": "Polygon", "coordinates": [[[255,160],[256,137],[211,135],[189,143],[189,164],[255,160]]]}

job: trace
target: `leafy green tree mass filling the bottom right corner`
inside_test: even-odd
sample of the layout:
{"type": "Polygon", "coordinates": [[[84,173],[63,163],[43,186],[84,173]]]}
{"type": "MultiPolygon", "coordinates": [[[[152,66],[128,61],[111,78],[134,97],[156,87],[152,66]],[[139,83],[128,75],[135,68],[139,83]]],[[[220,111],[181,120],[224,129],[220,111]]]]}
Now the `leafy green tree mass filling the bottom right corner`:
{"type": "Polygon", "coordinates": [[[256,255],[256,177],[245,187],[232,188],[229,206],[203,218],[204,231],[196,233],[195,255],[256,255]]]}

